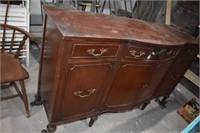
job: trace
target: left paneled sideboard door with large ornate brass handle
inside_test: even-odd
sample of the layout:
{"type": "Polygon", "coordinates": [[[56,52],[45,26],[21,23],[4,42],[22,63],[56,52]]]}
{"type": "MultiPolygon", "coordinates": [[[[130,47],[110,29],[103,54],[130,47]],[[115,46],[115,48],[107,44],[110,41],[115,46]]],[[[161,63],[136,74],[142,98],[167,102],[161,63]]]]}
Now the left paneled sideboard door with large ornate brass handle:
{"type": "Polygon", "coordinates": [[[73,119],[95,113],[111,69],[111,63],[71,65],[66,74],[60,118],[73,119]]]}

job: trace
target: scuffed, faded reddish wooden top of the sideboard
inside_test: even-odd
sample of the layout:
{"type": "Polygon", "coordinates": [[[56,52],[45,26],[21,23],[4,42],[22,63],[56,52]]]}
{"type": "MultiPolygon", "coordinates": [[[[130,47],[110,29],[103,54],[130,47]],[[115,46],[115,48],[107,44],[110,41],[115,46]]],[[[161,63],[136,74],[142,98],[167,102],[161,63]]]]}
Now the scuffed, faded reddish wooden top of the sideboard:
{"type": "Polygon", "coordinates": [[[50,6],[44,9],[64,39],[119,39],[160,45],[198,44],[196,39],[167,25],[50,6]]]}

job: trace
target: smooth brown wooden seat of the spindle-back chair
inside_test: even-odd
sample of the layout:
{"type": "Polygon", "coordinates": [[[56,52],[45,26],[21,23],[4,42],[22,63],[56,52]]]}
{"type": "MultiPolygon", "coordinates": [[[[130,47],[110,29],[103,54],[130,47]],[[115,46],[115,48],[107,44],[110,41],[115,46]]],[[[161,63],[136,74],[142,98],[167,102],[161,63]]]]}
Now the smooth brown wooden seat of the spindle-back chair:
{"type": "Polygon", "coordinates": [[[29,77],[28,72],[21,66],[19,59],[13,54],[1,53],[1,83],[23,80],[29,77]]]}

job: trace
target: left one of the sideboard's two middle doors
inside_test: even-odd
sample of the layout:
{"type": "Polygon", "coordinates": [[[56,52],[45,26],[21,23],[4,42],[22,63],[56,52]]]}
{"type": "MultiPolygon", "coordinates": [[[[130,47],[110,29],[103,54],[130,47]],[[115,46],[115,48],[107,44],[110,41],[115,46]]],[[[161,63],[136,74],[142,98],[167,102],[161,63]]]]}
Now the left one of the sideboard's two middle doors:
{"type": "Polygon", "coordinates": [[[143,89],[148,84],[152,72],[153,66],[151,64],[122,64],[109,92],[106,106],[123,107],[136,103],[135,97],[138,90],[143,89]]]}

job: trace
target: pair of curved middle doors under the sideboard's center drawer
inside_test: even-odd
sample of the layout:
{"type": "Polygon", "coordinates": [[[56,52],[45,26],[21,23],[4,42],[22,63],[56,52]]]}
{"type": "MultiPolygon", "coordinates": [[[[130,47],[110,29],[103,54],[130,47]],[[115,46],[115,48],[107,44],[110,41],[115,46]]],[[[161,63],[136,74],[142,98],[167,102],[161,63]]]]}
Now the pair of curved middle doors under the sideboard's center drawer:
{"type": "Polygon", "coordinates": [[[150,98],[170,64],[171,62],[122,64],[107,97],[106,106],[131,107],[150,98]]]}

